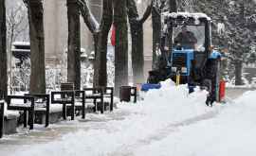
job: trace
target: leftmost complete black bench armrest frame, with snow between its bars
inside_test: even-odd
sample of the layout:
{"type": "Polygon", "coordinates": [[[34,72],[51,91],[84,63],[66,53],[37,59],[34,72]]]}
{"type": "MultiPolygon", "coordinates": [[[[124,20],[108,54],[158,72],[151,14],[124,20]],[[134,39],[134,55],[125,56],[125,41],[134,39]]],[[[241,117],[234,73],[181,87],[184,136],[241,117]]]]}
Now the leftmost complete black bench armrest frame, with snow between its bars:
{"type": "Polygon", "coordinates": [[[8,95],[7,96],[8,110],[24,112],[24,127],[27,128],[27,113],[29,129],[34,128],[34,97],[28,95],[8,95]],[[19,100],[19,101],[12,101],[19,100]]]}

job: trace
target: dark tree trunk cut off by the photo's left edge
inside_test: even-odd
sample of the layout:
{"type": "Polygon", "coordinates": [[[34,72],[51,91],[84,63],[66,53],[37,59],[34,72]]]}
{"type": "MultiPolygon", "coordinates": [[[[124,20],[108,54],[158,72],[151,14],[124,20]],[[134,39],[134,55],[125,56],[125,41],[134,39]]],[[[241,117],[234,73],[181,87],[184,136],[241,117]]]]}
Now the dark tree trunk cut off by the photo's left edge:
{"type": "Polygon", "coordinates": [[[0,99],[8,95],[6,4],[0,0],[0,99]]]}

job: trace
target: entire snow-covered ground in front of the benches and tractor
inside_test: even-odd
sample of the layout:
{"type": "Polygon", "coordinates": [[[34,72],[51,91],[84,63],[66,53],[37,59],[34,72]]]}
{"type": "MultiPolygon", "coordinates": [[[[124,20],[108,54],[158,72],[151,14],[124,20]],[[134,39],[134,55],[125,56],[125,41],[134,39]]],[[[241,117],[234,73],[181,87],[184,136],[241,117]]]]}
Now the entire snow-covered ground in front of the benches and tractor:
{"type": "Polygon", "coordinates": [[[205,106],[205,91],[165,82],[144,100],[114,113],[87,114],[44,129],[6,136],[0,155],[241,156],[255,155],[256,92],[226,105],[205,106]],[[253,139],[254,138],[254,139],[253,139]]]}

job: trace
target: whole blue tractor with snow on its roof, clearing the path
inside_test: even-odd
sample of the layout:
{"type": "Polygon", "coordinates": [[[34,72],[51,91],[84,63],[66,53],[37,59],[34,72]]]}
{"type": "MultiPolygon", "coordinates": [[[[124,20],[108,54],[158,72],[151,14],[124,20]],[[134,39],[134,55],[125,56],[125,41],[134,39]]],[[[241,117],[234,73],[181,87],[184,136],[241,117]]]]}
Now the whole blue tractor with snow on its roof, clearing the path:
{"type": "Polygon", "coordinates": [[[210,17],[204,13],[175,12],[164,13],[163,19],[161,53],[157,68],[149,72],[148,84],[172,78],[188,84],[191,91],[194,86],[207,89],[208,105],[218,101],[221,53],[211,45],[210,17]]]}

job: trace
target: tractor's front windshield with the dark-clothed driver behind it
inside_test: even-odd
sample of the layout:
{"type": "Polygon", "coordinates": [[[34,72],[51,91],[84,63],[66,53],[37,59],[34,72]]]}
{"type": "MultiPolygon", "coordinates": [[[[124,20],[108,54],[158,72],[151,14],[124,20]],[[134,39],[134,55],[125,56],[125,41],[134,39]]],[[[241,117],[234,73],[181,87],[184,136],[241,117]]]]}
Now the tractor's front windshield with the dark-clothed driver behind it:
{"type": "Polygon", "coordinates": [[[205,26],[174,27],[174,47],[205,51],[205,26]]]}

